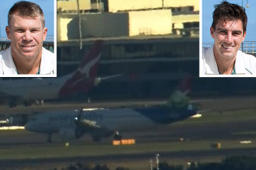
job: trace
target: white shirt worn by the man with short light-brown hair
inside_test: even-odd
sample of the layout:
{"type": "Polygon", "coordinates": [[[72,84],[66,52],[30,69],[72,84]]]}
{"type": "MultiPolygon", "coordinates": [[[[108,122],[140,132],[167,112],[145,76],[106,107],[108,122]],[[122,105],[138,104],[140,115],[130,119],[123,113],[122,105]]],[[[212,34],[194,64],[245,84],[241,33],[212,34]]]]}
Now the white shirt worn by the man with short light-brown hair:
{"type": "MultiPolygon", "coordinates": [[[[55,70],[55,56],[43,47],[40,64],[40,75],[53,75],[55,70]]],[[[11,56],[11,47],[0,51],[0,76],[18,75],[15,63],[11,56]]]]}

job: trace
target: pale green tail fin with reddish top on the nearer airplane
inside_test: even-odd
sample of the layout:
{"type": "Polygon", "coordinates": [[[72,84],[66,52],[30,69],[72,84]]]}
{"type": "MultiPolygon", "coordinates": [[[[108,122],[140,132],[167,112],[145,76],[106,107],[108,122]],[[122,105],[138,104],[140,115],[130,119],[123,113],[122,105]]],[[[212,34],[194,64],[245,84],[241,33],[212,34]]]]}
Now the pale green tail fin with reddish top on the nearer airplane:
{"type": "Polygon", "coordinates": [[[173,91],[172,95],[170,95],[167,106],[185,107],[190,104],[190,98],[187,97],[187,94],[190,92],[191,82],[192,76],[186,76],[178,85],[177,90],[173,91]]]}

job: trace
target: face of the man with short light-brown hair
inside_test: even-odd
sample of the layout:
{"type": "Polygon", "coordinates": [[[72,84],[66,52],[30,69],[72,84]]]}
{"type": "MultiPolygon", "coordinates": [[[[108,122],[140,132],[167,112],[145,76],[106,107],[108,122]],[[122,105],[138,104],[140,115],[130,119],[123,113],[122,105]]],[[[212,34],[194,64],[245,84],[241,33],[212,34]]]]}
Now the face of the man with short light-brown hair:
{"type": "MultiPolygon", "coordinates": [[[[25,59],[41,56],[43,40],[47,35],[47,27],[43,27],[40,17],[20,16],[12,14],[6,34],[11,40],[11,55],[25,59]]],[[[21,59],[21,58],[20,58],[21,59]]]]}

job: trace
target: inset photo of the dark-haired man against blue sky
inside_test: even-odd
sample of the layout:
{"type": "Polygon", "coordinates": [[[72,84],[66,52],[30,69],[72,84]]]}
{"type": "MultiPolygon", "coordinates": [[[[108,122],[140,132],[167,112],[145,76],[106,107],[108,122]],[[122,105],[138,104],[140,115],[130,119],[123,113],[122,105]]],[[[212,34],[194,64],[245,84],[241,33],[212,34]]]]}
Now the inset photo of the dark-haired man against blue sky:
{"type": "Polygon", "coordinates": [[[256,2],[201,0],[200,77],[256,77],[256,2]]]}

